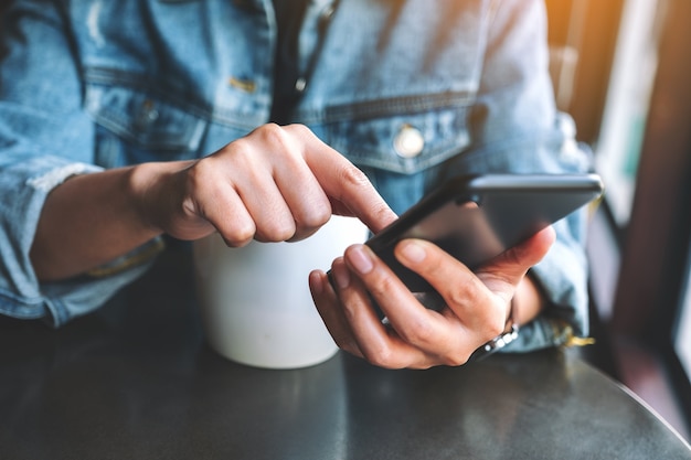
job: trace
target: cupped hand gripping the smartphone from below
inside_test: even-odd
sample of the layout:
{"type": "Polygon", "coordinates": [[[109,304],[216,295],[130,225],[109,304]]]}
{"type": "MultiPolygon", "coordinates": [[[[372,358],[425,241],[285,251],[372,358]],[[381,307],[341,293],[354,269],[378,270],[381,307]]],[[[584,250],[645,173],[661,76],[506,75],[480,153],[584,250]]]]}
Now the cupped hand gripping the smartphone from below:
{"type": "Polygon", "coordinates": [[[540,297],[525,288],[527,271],[554,242],[549,227],[507,250],[476,272],[437,246],[418,239],[401,242],[396,258],[425,278],[446,306],[425,308],[365,245],[353,245],[331,267],[336,286],[323,271],[310,274],[317,309],[337,344],[382,367],[426,368],[460,365],[475,350],[499,335],[519,286],[530,299],[517,299],[520,321],[539,312],[540,297]],[[375,313],[372,300],[386,315],[375,313]],[[530,304],[529,304],[530,303],[530,304]]]}

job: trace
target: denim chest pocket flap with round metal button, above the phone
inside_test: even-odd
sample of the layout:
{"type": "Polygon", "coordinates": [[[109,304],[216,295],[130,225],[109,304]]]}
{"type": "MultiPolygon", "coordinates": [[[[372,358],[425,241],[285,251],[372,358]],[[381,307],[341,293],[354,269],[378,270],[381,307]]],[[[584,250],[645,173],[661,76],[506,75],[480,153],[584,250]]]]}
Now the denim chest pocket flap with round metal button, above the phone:
{"type": "Polygon", "coordinates": [[[327,143],[361,167],[415,173],[469,143],[467,93],[402,97],[327,109],[327,143]]]}

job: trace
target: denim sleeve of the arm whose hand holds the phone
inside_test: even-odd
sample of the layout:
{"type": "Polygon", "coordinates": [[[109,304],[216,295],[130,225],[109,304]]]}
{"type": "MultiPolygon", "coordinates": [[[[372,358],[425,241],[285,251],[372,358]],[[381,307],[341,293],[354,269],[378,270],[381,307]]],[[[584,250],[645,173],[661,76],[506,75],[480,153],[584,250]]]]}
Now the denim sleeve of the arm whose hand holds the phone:
{"type": "MultiPolygon", "coordinates": [[[[474,147],[456,160],[458,168],[466,172],[589,171],[589,152],[576,143],[573,120],[554,106],[543,2],[496,1],[490,21],[483,76],[470,114],[474,147]]],[[[554,225],[555,244],[531,269],[549,307],[523,324],[508,351],[576,343],[588,334],[586,222],[583,208],[554,225]]]]}

